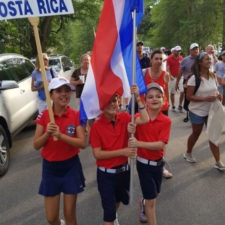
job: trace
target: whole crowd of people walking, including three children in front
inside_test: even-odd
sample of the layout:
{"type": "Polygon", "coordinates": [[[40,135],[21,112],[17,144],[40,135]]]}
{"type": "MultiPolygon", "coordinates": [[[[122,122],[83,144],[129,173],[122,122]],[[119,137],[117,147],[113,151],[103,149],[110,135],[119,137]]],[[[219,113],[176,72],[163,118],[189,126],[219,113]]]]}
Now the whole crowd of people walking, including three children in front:
{"type": "MultiPolygon", "coordinates": [[[[90,129],[89,140],[97,164],[103,225],[118,225],[117,210],[120,203],[129,203],[129,158],[136,158],[143,196],[139,202],[139,220],[149,225],[157,224],[156,198],[160,193],[162,179],[173,176],[165,168],[164,159],[171,131],[170,110],[181,113],[183,109],[186,110],[184,122],[190,120],[192,133],[187,140],[184,159],[195,163],[193,147],[207,123],[210,106],[217,100],[223,104],[225,102],[225,51],[221,53],[219,60],[212,45],[208,45],[205,51],[200,51],[199,45],[192,43],[189,55],[185,58],[181,56],[181,46],[173,47],[170,55],[161,47],[152,51],[149,56],[143,52],[143,46],[144,43],[138,41],[136,50],[147,92],[140,95],[136,85],[131,87],[138,111],[135,122],[131,123],[131,115],[121,110],[123,98],[118,92],[111,97],[90,129]],[[175,105],[177,92],[178,106],[175,105]]],[[[74,101],[79,105],[91,55],[86,53],[81,56],[81,65],[74,71],[70,81],[56,77],[48,67],[46,54],[43,54],[43,59],[55,123],[49,121],[45,100],[40,98],[39,92],[43,90],[43,84],[37,60],[31,87],[33,91],[38,91],[40,112],[34,136],[34,148],[41,149],[43,157],[39,193],[45,198],[46,219],[49,224],[76,225],[77,194],[85,187],[78,153],[80,148],[86,147],[86,135],[79,122],[79,112],[73,110],[69,102],[72,89],[75,88],[74,101]],[[54,137],[57,141],[53,140],[54,137]],[[65,221],[59,218],[61,193],[64,194],[65,221]]],[[[214,167],[224,171],[219,146],[212,141],[209,141],[209,146],[215,158],[214,167]]]]}

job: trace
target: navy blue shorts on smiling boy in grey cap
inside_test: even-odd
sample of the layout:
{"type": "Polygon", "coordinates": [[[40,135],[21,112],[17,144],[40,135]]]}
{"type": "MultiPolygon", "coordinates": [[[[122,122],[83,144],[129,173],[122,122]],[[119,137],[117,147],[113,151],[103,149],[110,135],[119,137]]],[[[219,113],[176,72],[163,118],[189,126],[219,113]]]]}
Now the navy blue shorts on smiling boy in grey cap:
{"type": "Polygon", "coordinates": [[[160,193],[163,165],[164,163],[160,166],[151,166],[137,161],[137,172],[144,199],[155,199],[160,193]]]}

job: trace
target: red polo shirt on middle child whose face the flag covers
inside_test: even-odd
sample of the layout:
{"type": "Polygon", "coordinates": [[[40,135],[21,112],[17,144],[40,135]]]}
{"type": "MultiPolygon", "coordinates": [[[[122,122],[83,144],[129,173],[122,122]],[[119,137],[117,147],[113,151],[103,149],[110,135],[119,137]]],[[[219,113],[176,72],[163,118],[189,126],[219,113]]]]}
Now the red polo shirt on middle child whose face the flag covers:
{"type": "MultiPolygon", "coordinates": [[[[112,151],[126,148],[128,144],[127,125],[131,121],[128,113],[118,113],[116,121],[112,122],[101,114],[91,126],[90,143],[92,148],[101,148],[104,151],[112,151]]],[[[123,165],[127,162],[127,157],[120,156],[110,159],[96,160],[97,166],[112,168],[123,165]]]]}

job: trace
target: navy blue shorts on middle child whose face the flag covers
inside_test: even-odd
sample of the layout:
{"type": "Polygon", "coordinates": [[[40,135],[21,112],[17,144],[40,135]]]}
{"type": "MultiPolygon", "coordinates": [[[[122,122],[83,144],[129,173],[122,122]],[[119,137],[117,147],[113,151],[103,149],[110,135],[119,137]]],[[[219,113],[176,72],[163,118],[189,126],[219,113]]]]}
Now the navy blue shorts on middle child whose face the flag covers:
{"type": "Polygon", "coordinates": [[[116,203],[129,203],[130,171],[111,174],[97,169],[97,182],[104,211],[103,220],[113,222],[116,219],[116,203]]]}

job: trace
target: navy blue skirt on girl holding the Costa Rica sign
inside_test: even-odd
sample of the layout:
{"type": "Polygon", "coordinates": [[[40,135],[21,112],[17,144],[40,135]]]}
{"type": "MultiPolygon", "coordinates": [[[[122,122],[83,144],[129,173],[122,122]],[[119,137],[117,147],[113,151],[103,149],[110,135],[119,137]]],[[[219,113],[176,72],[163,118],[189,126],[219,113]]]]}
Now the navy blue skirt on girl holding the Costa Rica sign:
{"type": "Polygon", "coordinates": [[[85,182],[78,155],[65,161],[49,162],[43,159],[39,194],[55,196],[77,194],[84,190],[85,182]]]}

